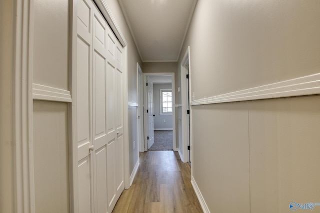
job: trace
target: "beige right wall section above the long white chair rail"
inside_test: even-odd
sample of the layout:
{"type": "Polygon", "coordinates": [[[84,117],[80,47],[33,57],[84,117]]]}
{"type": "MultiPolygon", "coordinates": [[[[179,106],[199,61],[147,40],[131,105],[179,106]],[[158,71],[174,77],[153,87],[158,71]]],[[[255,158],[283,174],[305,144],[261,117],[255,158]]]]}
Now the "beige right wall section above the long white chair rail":
{"type": "Polygon", "coordinates": [[[195,99],[314,74],[320,67],[318,0],[198,0],[190,45],[195,99]]]}

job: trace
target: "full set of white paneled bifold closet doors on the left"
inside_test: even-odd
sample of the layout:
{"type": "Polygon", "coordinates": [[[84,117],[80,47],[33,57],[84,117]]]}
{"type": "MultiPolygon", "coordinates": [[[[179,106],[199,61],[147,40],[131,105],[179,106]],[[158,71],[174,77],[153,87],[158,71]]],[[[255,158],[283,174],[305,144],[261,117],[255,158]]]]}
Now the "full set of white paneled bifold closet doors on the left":
{"type": "Polygon", "coordinates": [[[91,0],[77,8],[78,210],[106,213],[124,189],[123,49],[91,0]]]}

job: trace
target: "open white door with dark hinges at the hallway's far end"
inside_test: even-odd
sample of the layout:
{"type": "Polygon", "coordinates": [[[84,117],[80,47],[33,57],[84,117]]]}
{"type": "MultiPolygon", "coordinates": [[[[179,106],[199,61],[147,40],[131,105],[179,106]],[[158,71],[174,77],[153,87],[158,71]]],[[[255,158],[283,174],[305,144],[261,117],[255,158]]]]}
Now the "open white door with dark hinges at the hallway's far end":
{"type": "MultiPolygon", "coordinates": [[[[147,77],[148,79],[148,77],[147,77]]],[[[152,146],[154,143],[154,126],[153,126],[153,117],[154,117],[154,111],[153,111],[153,83],[148,82],[147,85],[147,116],[148,116],[148,149],[152,146]]]]}

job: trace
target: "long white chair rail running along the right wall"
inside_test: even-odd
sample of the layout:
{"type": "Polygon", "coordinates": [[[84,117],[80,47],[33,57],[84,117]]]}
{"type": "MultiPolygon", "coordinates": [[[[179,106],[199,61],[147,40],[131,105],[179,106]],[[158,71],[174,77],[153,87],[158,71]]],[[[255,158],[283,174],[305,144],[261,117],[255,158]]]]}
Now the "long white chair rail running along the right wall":
{"type": "Polygon", "coordinates": [[[190,105],[194,106],[315,94],[320,94],[320,73],[202,98],[190,102],[190,105]]]}

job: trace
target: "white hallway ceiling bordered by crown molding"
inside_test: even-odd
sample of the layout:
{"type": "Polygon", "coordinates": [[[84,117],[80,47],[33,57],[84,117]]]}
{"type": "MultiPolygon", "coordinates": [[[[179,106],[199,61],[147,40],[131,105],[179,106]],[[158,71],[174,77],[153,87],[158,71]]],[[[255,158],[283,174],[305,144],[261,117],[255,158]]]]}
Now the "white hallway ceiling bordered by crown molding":
{"type": "Polygon", "coordinates": [[[196,0],[118,1],[142,61],[177,61],[196,0]]]}

